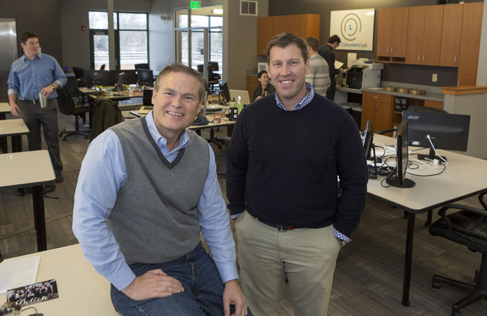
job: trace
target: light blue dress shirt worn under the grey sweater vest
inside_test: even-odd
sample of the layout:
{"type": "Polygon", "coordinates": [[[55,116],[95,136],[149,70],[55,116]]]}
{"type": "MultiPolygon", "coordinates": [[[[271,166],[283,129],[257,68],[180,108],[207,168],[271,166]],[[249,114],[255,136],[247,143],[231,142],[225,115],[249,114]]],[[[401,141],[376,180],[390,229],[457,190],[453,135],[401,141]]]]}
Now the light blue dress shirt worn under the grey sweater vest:
{"type": "MultiPolygon", "coordinates": [[[[189,144],[187,131],[182,131],[179,145],[169,151],[166,139],[157,131],[152,112],[146,116],[146,121],[161,153],[169,162],[173,162],[179,150],[189,144]]],[[[127,169],[122,146],[117,135],[106,130],[91,142],[81,165],[74,194],[73,232],[86,259],[118,290],[126,288],[134,280],[135,274],[125,262],[113,234],[106,226],[106,219],[115,205],[118,190],[126,180],[127,169]]],[[[198,202],[198,224],[222,281],[237,279],[230,218],[216,177],[215,156],[211,147],[209,172],[198,202]]]]}

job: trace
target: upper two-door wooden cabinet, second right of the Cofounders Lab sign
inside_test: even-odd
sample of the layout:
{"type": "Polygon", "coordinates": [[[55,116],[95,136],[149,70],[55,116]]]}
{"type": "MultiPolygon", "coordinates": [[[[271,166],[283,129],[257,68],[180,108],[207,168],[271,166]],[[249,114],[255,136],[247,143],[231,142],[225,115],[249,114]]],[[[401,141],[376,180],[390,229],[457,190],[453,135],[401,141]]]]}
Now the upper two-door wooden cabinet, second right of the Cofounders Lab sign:
{"type": "Polygon", "coordinates": [[[409,8],[407,64],[440,65],[444,7],[416,6],[409,8]]]}

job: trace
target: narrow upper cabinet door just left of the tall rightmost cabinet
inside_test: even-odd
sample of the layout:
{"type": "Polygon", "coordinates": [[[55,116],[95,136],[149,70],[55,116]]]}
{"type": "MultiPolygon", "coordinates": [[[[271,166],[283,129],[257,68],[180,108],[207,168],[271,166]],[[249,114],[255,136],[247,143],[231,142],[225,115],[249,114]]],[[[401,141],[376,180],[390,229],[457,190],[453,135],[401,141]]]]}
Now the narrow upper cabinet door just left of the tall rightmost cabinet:
{"type": "Polygon", "coordinates": [[[449,4],[443,9],[440,66],[458,67],[462,15],[463,4],[449,4]]]}

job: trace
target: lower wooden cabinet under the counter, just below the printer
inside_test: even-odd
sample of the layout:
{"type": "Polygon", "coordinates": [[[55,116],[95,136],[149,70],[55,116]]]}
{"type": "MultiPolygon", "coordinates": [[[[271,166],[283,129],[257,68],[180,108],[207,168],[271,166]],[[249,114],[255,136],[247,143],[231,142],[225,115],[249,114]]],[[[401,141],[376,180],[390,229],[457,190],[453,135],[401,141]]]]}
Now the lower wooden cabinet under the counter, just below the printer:
{"type": "Polygon", "coordinates": [[[391,128],[392,126],[392,95],[363,92],[362,121],[360,129],[365,130],[367,121],[372,122],[374,131],[391,128]]]}

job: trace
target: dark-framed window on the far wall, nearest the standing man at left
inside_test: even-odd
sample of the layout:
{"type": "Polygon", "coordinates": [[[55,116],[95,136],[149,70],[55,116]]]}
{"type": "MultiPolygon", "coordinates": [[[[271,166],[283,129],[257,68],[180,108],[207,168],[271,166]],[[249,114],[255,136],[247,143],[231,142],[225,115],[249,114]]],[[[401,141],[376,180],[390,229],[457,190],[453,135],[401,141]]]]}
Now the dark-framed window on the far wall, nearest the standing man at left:
{"type": "MultiPolygon", "coordinates": [[[[90,28],[91,67],[109,69],[108,13],[88,12],[90,28]]],[[[148,63],[147,14],[113,13],[115,29],[115,69],[135,69],[134,65],[148,63]]]]}

